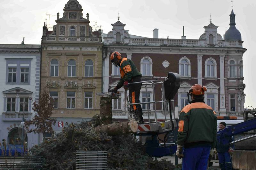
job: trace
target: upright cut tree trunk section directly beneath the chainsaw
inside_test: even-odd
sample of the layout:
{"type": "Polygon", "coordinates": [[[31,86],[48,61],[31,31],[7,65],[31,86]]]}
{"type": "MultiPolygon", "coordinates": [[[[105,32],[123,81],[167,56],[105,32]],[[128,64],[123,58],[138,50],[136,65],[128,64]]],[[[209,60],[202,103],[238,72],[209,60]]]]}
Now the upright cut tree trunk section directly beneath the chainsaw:
{"type": "Polygon", "coordinates": [[[105,124],[112,123],[112,100],[108,97],[100,97],[100,119],[105,124]]]}

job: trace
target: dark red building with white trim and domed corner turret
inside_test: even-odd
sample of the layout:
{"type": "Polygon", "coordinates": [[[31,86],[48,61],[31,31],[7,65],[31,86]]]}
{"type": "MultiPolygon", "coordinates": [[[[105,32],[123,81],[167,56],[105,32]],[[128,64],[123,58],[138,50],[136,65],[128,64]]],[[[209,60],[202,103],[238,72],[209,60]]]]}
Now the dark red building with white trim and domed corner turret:
{"type": "MultiPolygon", "coordinates": [[[[235,14],[230,14],[230,28],[222,37],[217,33],[218,26],[210,23],[204,26],[199,39],[158,39],[158,29],[153,30],[153,38],[130,35],[124,24],[117,21],[112,31],[104,34],[103,91],[108,84],[116,86],[120,79],[119,69],[109,61],[110,54],[118,51],[123,57],[132,59],[144,80],[164,80],[168,72],[181,76],[181,85],[175,96],[175,105],[180,111],[187,103],[187,92],[193,84],[207,87],[205,103],[218,115],[241,117],[245,94],[243,83],[243,41],[235,27],[235,14]]],[[[163,99],[161,87],[156,87],[156,101],[163,99]]],[[[124,109],[124,89],[119,90],[121,98],[113,100],[113,115],[118,119],[128,118],[124,109]]],[[[152,89],[145,92],[142,87],[140,101],[153,101],[152,89]]],[[[154,106],[150,104],[150,118],[154,119],[154,106]]],[[[144,118],[147,118],[147,105],[142,105],[144,118]]],[[[167,108],[168,109],[168,108],[167,108]]],[[[163,104],[156,104],[159,118],[164,118],[163,104]]],[[[169,115],[169,114],[167,114],[169,115]]]]}

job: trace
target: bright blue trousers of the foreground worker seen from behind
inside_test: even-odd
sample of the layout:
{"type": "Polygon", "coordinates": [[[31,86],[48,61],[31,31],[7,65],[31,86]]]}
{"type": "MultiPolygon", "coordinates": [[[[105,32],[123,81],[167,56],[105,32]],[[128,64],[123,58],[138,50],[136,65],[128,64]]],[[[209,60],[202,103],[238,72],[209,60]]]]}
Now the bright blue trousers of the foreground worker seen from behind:
{"type": "Polygon", "coordinates": [[[184,148],[182,170],[206,170],[210,150],[210,146],[184,148]]]}

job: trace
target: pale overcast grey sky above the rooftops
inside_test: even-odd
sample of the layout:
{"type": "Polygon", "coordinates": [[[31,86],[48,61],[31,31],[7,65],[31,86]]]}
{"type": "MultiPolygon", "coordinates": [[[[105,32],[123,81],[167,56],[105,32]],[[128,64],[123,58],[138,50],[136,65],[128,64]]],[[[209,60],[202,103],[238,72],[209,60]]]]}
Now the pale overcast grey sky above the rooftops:
{"type": "MultiPolygon", "coordinates": [[[[55,25],[56,14],[63,16],[63,8],[68,0],[1,0],[0,5],[0,44],[20,44],[25,37],[25,44],[40,44],[42,27],[46,13],[50,24],[55,25]]],[[[159,29],[159,38],[180,39],[182,26],[185,26],[187,39],[199,39],[204,33],[204,26],[212,23],[219,26],[218,33],[223,36],[229,28],[230,0],[79,0],[89,13],[90,25],[102,25],[104,33],[112,30],[111,24],[120,21],[126,24],[130,34],[152,38],[154,28],[159,29]]],[[[256,107],[256,53],[253,52],[256,41],[255,0],[234,0],[233,11],[236,14],[236,28],[241,32],[243,47],[247,49],[243,56],[244,64],[244,107],[256,107]]],[[[48,21],[47,21],[48,22],[48,21]]]]}

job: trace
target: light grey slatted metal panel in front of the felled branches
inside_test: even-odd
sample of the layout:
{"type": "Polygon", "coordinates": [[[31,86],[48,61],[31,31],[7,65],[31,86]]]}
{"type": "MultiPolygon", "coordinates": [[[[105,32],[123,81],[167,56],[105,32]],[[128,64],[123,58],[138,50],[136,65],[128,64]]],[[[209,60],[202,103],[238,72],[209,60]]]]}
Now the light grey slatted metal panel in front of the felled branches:
{"type": "Polygon", "coordinates": [[[106,170],[107,151],[76,151],[76,170],[106,170]]]}

